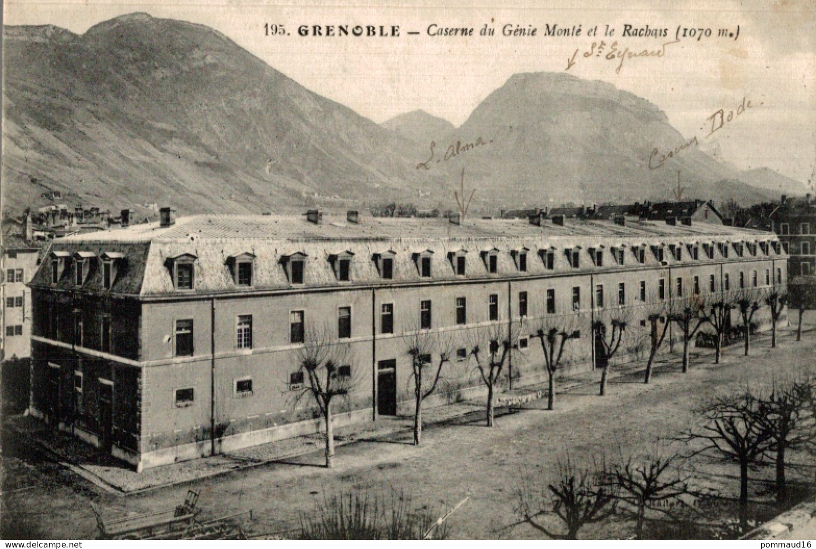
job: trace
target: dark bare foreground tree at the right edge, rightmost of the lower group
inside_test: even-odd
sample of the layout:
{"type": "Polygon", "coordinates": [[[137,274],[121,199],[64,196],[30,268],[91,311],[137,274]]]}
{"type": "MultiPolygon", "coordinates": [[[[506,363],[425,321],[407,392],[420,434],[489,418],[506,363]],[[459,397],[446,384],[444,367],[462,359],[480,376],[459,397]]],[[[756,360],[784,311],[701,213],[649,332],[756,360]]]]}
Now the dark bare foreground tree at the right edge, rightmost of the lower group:
{"type": "Polygon", "coordinates": [[[774,454],[776,462],[776,498],[779,502],[787,499],[786,450],[804,447],[814,436],[814,433],[810,433],[812,429],[806,425],[810,419],[809,388],[807,380],[784,384],[778,384],[774,380],[770,393],[759,397],[756,421],[767,428],[771,435],[769,451],[774,454]]]}

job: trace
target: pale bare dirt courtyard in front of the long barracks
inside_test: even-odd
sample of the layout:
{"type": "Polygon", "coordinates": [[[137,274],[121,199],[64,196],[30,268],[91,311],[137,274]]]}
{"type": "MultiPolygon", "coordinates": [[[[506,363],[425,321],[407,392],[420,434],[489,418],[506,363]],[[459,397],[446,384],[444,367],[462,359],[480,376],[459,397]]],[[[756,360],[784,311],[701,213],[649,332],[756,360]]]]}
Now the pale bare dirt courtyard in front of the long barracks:
{"type": "MultiPolygon", "coordinates": [[[[339,447],[336,467],[320,467],[322,454],[313,452],[268,463],[220,477],[149,490],[128,496],[114,495],[76,477],[73,473],[37,459],[7,440],[4,467],[18,485],[33,486],[7,492],[4,509],[14,509],[39,527],[42,538],[93,538],[95,516],[91,502],[104,516],[151,512],[184,501],[188,488],[201,490],[199,507],[205,516],[223,516],[252,509],[255,532],[299,525],[302,513],[323,495],[343,490],[356,481],[374,490],[393,487],[411,494],[415,503],[441,512],[463,498],[469,500],[450,517],[453,538],[538,538],[529,526],[503,529],[516,519],[515,493],[522,479],[545,481],[559,456],[601,455],[619,459],[633,451],[648,450],[654,441],[676,437],[694,424],[694,409],[708,397],[769,384],[777,379],[816,373],[816,332],[806,331],[801,342],[785,329],[778,349],[769,337],[756,337],[752,355],[743,357],[742,345],[725,351],[720,365],[704,350],[692,357],[690,371],[682,374],[679,357],[670,356],[657,366],[651,384],[642,383],[643,364],[610,382],[607,396],[597,396],[599,372],[583,376],[557,397],[557,410],[546,411],[546,398],[530,402],[520,411],[499,415],[496,427],[484,426],[483,412],[473,413],[428,428],[422,446],[410,445],[410,433],[392,433],[373,440],[339,447]],[[18,459],[19,458],[19,459],[18,459]],[[33,466],[33,467],[32,467],[33,466]],[[25,480],[29,479],[29,480],[25,480]]],[[[628,367],[629,368],[629,367],[628,367]]],[[[664,442],[667,444],[667,442],[664,442]]],[[[676,450],[688,450],[675,443],[676,450]]],[[[788,477],[792,492],[803,497],[813,485],[814,469],[804,455],[792,455],[788,477]]],[[[720,507],[696,517],[698,523],[719,520],[733,507],[728,498],[738,493],[738,469],[729,463],[696,458],[685,463],[697,488],[707,488],[725,498],[720,507]],[[729,507],[730,506],[730,507],[729,507]]],[[[752,512],[766,520],[781,510],[773,502],[773,468],[752,472],[752,512]]],[[[24,520],[22,520],[24,522],[24,520]]],[[[552,522],[558,528],[557,522],[552,522]]],[[[632,521],[620,518],[582,529],[583,538],[628,538],[632,521]]],[[[650,525],[658,535],[658,525],[650,525]]],[[[679,534],[668,534],[679,535],[679,534]]]]}

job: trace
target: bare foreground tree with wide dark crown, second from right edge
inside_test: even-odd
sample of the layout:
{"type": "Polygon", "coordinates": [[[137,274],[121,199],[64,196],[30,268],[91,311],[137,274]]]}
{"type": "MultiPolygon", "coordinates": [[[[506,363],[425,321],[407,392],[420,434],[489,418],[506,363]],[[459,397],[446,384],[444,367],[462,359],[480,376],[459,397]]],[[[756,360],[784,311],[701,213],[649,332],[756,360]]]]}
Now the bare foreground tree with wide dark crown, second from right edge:
{"type": "Polygon", "coordinates": [[[761,463],[769,449],[773,433],[757,417],[759,400],[749,391],[716,397],[698,410],[704,424],[689,431],[683,439],[703,445],[692,455],[710,453],[735,461],[739,465],[739,503],[748,503],[748,469],[761,463]]]}

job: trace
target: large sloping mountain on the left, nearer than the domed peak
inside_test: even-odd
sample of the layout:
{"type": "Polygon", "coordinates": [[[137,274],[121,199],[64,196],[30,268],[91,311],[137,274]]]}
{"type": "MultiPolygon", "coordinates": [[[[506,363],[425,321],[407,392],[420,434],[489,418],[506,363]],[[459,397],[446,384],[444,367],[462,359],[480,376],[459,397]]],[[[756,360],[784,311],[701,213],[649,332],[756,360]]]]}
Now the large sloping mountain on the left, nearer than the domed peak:
{"type": "Polygon", "coordinates": [[[212,29],[131,14],[4,34],[7,209],[47,190],[181,213],[417,194],[413,144],[212,29]]]}

